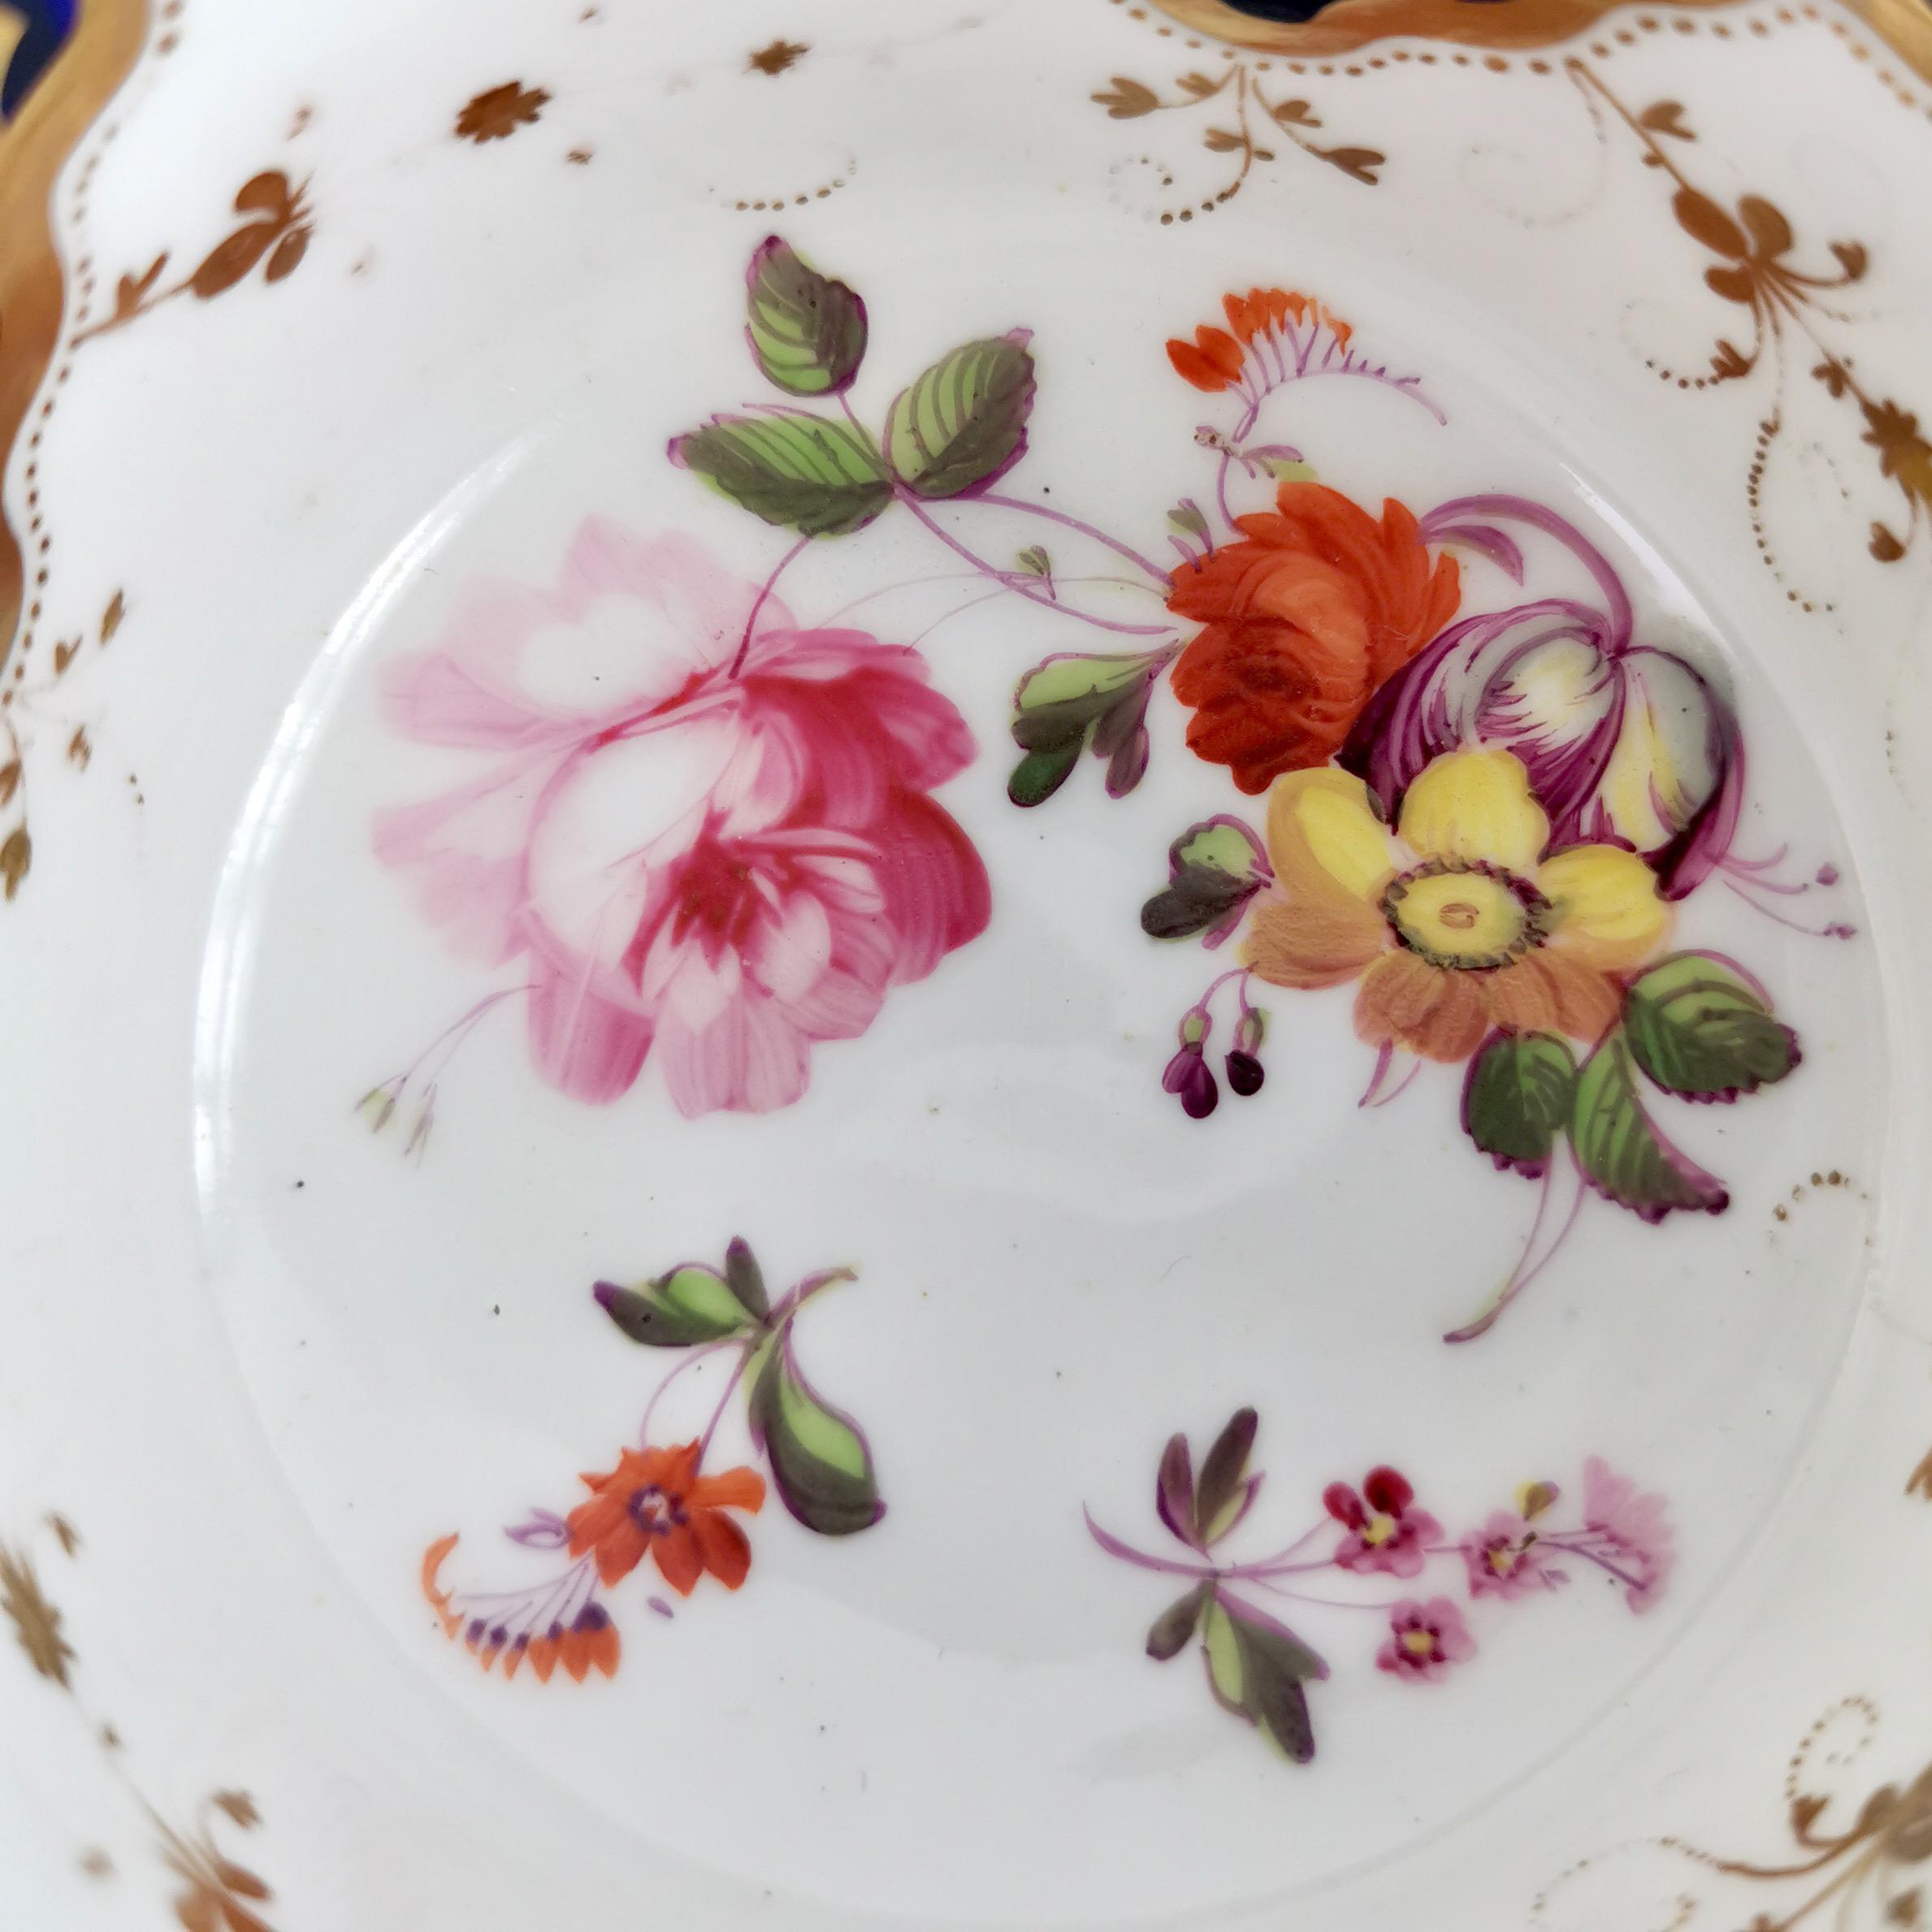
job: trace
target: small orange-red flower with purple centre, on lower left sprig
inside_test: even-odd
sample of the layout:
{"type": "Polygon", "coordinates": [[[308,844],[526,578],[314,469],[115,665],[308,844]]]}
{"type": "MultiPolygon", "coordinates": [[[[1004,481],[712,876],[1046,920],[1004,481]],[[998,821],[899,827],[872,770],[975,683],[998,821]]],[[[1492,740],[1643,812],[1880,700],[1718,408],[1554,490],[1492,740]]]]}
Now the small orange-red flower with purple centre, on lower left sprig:
{"type": "Polygon", "coordinates": [[[726,1509],[757,1511],[765,1478],[752,1468],[699,1476],[701,1447],[626,1449],[609,1476],[585,1476],[587,1503],[570,1511],[570,1553],[597,1551],[605,1584],[628,1577],[647,1555],[680,1596],[711,1571],[736,1590],[752,1567],[752,1546],[726,1509]]]}

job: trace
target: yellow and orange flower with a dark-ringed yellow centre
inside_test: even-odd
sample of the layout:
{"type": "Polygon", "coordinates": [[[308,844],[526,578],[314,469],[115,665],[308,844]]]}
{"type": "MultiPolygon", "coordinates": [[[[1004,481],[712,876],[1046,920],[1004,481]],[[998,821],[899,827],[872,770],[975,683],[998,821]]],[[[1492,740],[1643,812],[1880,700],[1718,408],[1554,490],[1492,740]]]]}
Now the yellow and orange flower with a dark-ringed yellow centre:
{"type": "Polygon", "coordinates": [[[1621,846],[1548,852],[1549,819],[1511,752],[1447,752],[1403,798],[1391,837],[1360,779],[1293,771],[1267,798],[1275,891],[1242,956],[1275,985],[1360,980],[1372,1047],[1463,1061],[1495,1028],[1596,1039],[1615,974],[1642,964],[1671,910],[1621,846]]]}

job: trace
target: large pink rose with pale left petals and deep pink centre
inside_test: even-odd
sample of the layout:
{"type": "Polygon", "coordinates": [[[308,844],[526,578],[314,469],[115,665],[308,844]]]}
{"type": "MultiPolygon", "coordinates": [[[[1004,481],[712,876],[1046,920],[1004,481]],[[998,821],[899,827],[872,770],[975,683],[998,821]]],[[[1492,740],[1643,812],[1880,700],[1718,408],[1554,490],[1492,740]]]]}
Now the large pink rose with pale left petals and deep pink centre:
{"type": "Polygon", "coordinates": [[[813,1041],[985,929],[927,796],[974,742],[920,653],[800,630],[686,537],[593,518],[554,589],[473,587],[386,699],[489,763],[383,813],[377,854],[460,951],[526,962],[537,1068],[578,1099],[655,1047],[686,1115],[784,1107],[813,1041]]]}

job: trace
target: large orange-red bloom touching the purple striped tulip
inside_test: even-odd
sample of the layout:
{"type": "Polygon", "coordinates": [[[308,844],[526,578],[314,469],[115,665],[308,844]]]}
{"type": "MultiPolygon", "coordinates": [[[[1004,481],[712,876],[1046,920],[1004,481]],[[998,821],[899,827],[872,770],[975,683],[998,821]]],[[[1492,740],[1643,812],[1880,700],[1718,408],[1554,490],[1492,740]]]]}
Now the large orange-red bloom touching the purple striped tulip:
{"type": "Polygon", "coordinates": [[[1236,518],[1242,541],[1179,572],[1167,601],[1206,626],[1173,672],[1188,746],[1244,792],[1327,763],[1463,595],[1455,558],[1432,562],[1393,497],[1379,524],[1321,483],[1283,483],[1277,506],[1236,518]]]}

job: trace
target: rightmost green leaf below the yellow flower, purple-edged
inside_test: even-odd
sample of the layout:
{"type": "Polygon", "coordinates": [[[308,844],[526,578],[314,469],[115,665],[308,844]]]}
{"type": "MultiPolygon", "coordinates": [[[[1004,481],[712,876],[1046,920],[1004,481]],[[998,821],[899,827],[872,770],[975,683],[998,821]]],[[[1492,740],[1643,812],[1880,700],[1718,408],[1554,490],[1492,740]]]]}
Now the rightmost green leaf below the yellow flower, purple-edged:
{"type": "Polygon", "coordinates": [[[1729,1101],[1783,1080],[1799,1037],[1772,1016],[1764,989],[1710,952],[1679,952],[1652,966],[1623,1001],[1636,1065],[1665,1094],[1729,1101]]]}

